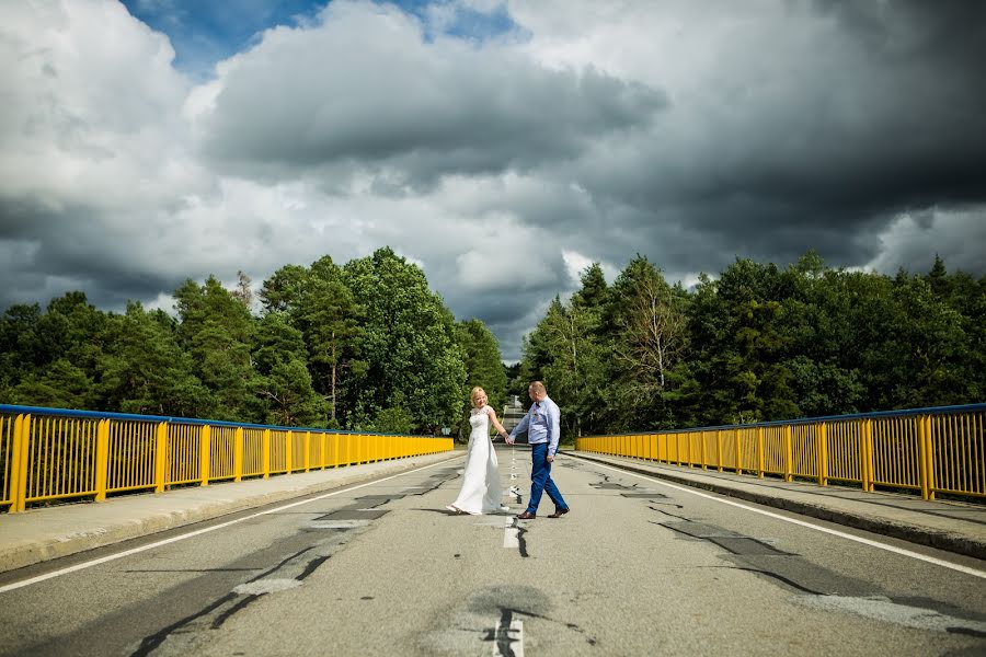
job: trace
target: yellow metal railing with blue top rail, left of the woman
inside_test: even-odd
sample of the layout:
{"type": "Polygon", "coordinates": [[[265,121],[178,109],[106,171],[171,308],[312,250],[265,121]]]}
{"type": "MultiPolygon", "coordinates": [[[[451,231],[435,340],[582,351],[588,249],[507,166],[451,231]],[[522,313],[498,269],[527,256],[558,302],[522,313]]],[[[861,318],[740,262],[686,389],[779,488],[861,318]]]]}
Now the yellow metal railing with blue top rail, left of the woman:
{"type": "Polygon", "coordinates": [[[451,438],[0,405],[0,508],[451,451],[451,438]]]}

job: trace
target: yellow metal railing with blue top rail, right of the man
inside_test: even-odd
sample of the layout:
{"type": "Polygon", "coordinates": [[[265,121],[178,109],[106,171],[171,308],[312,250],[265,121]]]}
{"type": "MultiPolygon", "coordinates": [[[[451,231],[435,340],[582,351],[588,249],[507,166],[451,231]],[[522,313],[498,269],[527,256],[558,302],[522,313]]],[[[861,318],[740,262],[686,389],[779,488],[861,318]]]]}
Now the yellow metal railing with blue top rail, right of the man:
{"type": "Polygon", "coordinates": [[[986,404],[576,438],[578,451],[786,481],[986,497],[986,404]]]}

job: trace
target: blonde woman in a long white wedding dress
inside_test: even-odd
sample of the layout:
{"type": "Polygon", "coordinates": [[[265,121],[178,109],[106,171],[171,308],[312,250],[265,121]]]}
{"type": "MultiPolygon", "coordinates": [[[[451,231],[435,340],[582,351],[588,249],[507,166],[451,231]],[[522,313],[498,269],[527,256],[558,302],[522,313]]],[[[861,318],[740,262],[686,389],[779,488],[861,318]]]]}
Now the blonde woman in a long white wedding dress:
{"type": "Polygon", "coordinates": [[[456,500],[445,508],[473,516],[491,511],[508,511],[509,509],[503,506],[500,469],[493,442],[490,440],[490,423],[493,423],[496,433],[504,439],[507,433],[496,419],[496,412],[486,404],[486,392],[482,388],[473,388],[471,396],[472,411],[469,424],[472,426],[472,433],[469,435],[462,488],[456,500]]]}

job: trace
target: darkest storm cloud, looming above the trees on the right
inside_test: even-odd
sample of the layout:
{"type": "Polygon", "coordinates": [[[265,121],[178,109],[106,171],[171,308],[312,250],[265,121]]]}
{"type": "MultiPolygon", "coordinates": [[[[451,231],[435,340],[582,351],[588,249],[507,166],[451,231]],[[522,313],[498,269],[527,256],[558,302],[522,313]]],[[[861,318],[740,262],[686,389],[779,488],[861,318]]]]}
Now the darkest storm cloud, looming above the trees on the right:
{"type": "MultiPolygon", "coordinates": [[[[986,203],[986,4],[810,7],[790,7],[787,27],[804,36],[782,46],[769,33],[759,50],[720,44],[704,106],[676,104],[653,139],[614,140],[570,172],[632,207],[624,226],[673,266],[807,249],[864,264],[899,212],[986,203]],[[676,257],[661,241],[673,224],[723,249],[676,257]]],[[[623,260],[624,244],[607,246],[623,260]]]]}

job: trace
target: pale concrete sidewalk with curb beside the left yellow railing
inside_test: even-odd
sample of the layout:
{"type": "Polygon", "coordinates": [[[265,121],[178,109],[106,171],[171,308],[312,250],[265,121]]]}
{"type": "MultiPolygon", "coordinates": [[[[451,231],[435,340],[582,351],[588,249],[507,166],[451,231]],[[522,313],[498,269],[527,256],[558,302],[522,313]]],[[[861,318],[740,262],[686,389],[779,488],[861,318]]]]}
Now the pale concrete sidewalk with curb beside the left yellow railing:
{"type": "MultiPolygon", "coordinates": [[[[129,517],[113,521],[96,522],[95,527],[87,528],[78,531],[69,531],[64,534],[42,535],[38,538],[15,540],[12,542],[0,541],[0,573],[23,568],[37,563],[69,556],[96,548],[104,548],[114,543],[119,543],[130,539],[141,538],[171,529],[177,529],[205,520],[213,520],[230,514],[249,510],[251,508],[262,507],[278,502],[305,497],[314,493],[322,493],[335,488],[344,488],[354,484],[368,482],[375,479],[388,475],[400,474],[416,468],[425,465],[434,465],[460,456],[456,452],[447,452],[444,454],[431,454],[428,457],[412,457],[410,459],[401,459],[391,462],[383,462],[380,466],[372,469],[364,469],[354,471],[344,476],[334,477],[317,483],[303,484],[299,481],[291,481],[293,475],[284,475],[276,477],[278,483],[283,485],[276,491],[245,494],[242,488],[236,489],[240,484],[228,483],[211,486],[210,492],[222,489],[222,497],[216,499],[181,499],[179,496],[183,491],[194,494],[196,488],[185,488],[172,492],[174,507],[168,510],[150,510],[144,511],[145,515],[137,517],[139,514],[129,511],[129,517]],[[450,453],[450,456],[447,456],[450,453]],[[446,458],[437,458],[445,456],[446,458]],[[294,484],[294,485],[293,485],[294,484]],[[239,496],[238,496],[239,493],[239,496]],[[182,503],[184,502],[184,506],[182,503]]],[[[358,468],[358,466],[357,466],[358,468]]],[[[346,469],[320,472],[345,472],[346,469]]],[[[265,480],[272,481],[272,480],[265,480]]],[[[249,482],[246,482],[249,484],[249,482]]],[[[161,496],[153,496],[158,502],[161,496]]],[[[169,495],[165,493],[163,495],[169,495]]],[[[133,498],[130,498],[133,499],[133,498]]],[[[82,503],[85,505],[100,504],[103,509],[110,508],[108,503],[82,503]]],[[[56,507],[66,508],[66,507],[56,507]]],[[[101,509],[101,510],[103,510],[101,509]]],[[[36,509],[26,511],[26,514],[45,514],[54,509],[36,509]]]]}

